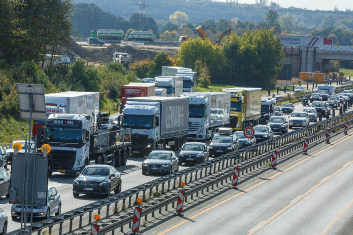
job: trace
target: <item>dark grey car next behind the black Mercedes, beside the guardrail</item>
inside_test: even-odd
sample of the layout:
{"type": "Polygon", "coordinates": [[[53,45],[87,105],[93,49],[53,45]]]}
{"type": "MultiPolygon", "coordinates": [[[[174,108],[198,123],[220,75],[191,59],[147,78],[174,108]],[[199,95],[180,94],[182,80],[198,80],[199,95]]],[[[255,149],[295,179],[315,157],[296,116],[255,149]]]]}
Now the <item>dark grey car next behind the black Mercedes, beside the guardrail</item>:
{"type": "Polygon", "coordinates": [[[167,173],[179,171],[179,161],[175,152],[167,150],[154,150],[142,164],[142,174],[146,173],[167,173]]]}

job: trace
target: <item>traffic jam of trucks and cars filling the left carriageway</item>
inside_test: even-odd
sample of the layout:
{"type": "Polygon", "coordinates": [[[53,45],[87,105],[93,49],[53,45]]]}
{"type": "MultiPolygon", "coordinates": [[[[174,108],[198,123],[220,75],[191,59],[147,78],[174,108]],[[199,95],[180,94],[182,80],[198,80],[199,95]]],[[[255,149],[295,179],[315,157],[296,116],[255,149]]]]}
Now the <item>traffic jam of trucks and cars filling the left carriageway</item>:
{"type": "MultiPolygon", "coordinates": [[[[190,86],[185,92],[185,77],[196,81],[190,69],[162,67],[162,75],[154,83],[122,86],[121,103],[112,115],[97,111],[99,93],[46,94],[47,121],[33,121],[29,143],[16,140],[0,148],[2,167],[6,169],[12,161],[15,145],[21,145],[21,154],[48,144],[48,174],[75,175],[72,197],[109,197],[112,192],[122,191],[119,168],[129,165],[130,160],[142,160],[138,164],[144,176],[171,174],[180,167],[207,162],[275,135],[305,128],[310,122],[333,115],[353,99],[353,90],[336,94],[334,86],[320,85],[317,92],[304,96],[300,103],[276,105],[276,98],[262,97],[261,88],[196,92],[196,87],[190,86]],[[158,89],[165,89],[165,93],[159,93],[165,96],[156,96],[158,89]]],[[[3,176],[0,191],[9,198],[10,177],[7,171],[3,176]]],[[[35,217],[58,215],[63,203],[68,203],[61,201],[54,186],[49,186],[47,194],[48,205],[37,208],[35,217]]],[[[21,210],[21,205],[12,204],[13,220],[20,217],[21,210]]]]}

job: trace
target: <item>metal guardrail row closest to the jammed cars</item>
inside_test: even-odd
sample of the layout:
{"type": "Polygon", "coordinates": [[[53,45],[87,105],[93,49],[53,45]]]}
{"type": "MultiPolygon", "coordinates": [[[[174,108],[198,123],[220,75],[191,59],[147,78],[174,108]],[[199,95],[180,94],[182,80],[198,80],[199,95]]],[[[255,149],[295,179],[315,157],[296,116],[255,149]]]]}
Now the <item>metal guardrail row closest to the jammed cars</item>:
{"type": "MultiPolygon", "coordinates": [[[[183,178],[186,182],[192,182],[193,180],[203,179],[209,175],[217,174],[218,172],[228,168],[236,163],[241,164],[241,161],[249,160],[251,158],[255,158],[260,156],[261,154],[266,153],[267,151],[271,151],[279,146],[283,146],[285,144],[292,143],[299,138],[304,136],[308,136],[313,134],[314,132],[327,128],[337,123],[341,122],[343,119],[353,117],[353,112],[344,113],[340,116],[333,117],[331,119],[325,120],[321,123],[312,124],[306,128],[297,129],[293,132],[280,135],[275,137],[273,140],[268,140],[256,144],[254,146],[247,147],[245,149],[241,149],[234,154],[226,154],[220,156],[219,158],[210,160],[206,163],[202,163],[196,165],[194,167],[190,167],[183,171],[170,174],[165,177],[161,177],[159,179],[153,180],[151,182],[139,185],[137,187],[131,188],[127,191],[121,192],[119,194],[113,195],[109,198],[88,204],[86,206],[77,208],[72,211],[65,212],[61,215],[54,216],[50,219],[46,219],[42,222],[36,223],[32,226],[32,233],[41,234],[44,230],[49,230],[49,233],[56,231],[55,234],[63,234],[63,228],[68,230],[67,232],[71,232],[74,229],[82,228],[92,222],[92,213],[93,211],[98,211],[98,214],[101,215],[101,218],[108,218],[113,215],[117,215],[118,208],[126,209],[131,208],[135,199],[142,195],[144,201],[149,198],[152,198],[153,192],[170,190],[171,187],[175,188],[182,182],[183,178]],[[233,159],[233,161],[230,161],[233,159]],[[227,160],[225,162],[225,160],[227,160]],[[229,162],[230,161],[230,162],[229,162]],[[193,177],[195,179],[193,179],[193,177]],[[167,185],[167,187],[166,187],[167,185]],[[105,214],[104,214],[105,212],[105,214]],[[83,221],[83,218],[86,220],[83,221]],[[79,226],[77,228],[73,228],[73,221],[79,219],[79,226]]],[[[188,193],[191,193],[188,192],[188,193]]],[[[187,195],[188,195],[187,193],[187,195]]],[[[172,201],[172,199],[170,199],[172,201]]],[[[153,207],[155,208],[155,207],[153,207]]],[[[147,211],[143,212],[143,215],[148,213],[147,211]]],[[[120,216],[121,219],[119,221],[130,221],[130,216],[120,216]],[[129,219],[128,219],[129,218],[129,219]]],[[[131,221],[130,221],[131,222],[131,221]]],[[[125,222],[124,222],[125,223],[125,222]]],[[[109,224],[106,224],[107,226],[109,224]]],[[[102,229],[105,229],[105,226],[102,229]]],[[[102,230],[104,231],[104,230],[102,230]]],[[[18,234],[19,230],[13,231],[9,234],[18,234]]]]}

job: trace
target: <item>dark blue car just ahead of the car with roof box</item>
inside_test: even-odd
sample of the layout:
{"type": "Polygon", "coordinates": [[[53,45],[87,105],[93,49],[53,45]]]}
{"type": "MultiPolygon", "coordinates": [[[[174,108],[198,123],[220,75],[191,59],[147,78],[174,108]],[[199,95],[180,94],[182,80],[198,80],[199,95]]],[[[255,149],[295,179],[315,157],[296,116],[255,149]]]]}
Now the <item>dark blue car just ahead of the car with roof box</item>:
{"type": "Polygon", "coordinates": [[[188,142],[179,153],[179,165],[183,163],[203,163],[208,161],[208,149],[205,143],[188,142]]]}

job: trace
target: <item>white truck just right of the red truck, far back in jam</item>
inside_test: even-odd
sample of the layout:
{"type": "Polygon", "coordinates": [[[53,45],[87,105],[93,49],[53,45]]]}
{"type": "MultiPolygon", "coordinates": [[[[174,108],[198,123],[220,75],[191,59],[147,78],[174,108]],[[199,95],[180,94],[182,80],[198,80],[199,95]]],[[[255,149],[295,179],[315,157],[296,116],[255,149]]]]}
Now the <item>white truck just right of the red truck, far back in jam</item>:
{"type": "Polygon", "coordinates": [[[156,88],[165,88],[167,96],[179,97],[183,93],[183,76],[156,76],[156,88]]]}

